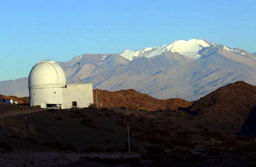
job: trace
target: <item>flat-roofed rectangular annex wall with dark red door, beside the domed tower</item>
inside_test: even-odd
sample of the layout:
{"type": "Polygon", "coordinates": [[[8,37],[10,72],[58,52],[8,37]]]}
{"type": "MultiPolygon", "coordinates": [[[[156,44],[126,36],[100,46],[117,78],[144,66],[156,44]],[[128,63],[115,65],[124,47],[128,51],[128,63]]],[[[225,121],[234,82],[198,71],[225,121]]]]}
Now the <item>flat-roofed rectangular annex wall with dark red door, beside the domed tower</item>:
{"type": "Polygon", "coordinates": [[[71,108],[72,102],[77,102],[77,107],[88,107],[93,104],[92,84],[67,85],[62,88],[62,109],[71,108]]]}

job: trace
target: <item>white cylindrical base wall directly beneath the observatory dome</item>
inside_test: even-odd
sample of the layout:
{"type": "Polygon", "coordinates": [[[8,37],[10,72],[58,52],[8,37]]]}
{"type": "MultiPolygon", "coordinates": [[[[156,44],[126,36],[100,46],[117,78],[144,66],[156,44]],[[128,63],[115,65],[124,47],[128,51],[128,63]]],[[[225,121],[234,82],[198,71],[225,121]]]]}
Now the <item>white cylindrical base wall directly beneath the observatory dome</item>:
{"type": "Polygon", "coordinates": [[[62,104],[62,88],[31,88],[29,90],[30,106],[39,105],[46,107],[46,104],[62,104]]]}

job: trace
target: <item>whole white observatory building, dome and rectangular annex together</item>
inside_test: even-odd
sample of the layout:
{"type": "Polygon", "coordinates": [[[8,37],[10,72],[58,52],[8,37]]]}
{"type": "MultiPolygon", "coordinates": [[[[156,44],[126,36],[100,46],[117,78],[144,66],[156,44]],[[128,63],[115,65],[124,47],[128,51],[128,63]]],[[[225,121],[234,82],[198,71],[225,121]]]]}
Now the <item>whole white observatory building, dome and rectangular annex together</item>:
{"type": "Polygon", "coordinates": [[[55,61],[36,63],[30,71],[28,83],[30,106],[67,109],[93,104],[92,84],[67,85],[65,72],[55,61]]]}

